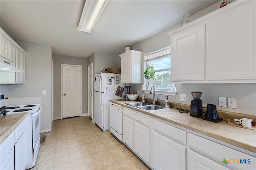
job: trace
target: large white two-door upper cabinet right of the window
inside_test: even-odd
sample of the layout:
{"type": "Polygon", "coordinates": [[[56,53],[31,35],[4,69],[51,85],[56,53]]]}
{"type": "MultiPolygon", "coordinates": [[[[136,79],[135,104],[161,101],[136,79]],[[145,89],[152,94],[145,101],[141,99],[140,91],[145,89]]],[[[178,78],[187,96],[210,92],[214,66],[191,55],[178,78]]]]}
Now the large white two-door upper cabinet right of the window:
{"type": "Polygon", "coordinates": [[[256,1],[235,1],[174,31],[175,83],[256,83],[256,1]]]}

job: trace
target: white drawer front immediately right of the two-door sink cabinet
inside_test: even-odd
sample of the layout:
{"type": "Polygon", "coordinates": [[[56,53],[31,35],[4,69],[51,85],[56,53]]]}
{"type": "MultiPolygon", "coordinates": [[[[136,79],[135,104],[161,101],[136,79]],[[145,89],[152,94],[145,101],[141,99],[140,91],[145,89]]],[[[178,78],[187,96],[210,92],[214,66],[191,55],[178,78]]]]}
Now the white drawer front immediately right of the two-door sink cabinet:
{"type": "Polygon", "coordinates": [[[182,144],[186,144],[186,131],[154,120],[154,131],[182,144]]]}

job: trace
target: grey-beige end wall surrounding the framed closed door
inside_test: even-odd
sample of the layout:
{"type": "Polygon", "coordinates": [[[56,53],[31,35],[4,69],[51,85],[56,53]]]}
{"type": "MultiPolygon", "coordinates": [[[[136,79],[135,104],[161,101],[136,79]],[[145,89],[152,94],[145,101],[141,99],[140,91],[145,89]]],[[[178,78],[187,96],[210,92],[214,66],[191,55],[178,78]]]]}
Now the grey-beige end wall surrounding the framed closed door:
{"type": "Polygon", "coordinates": [[[53,55],[54,77],[54,119],[60,119],[61,91],[60,91],[60,64],[74,64],[82,66],[82,113],[88,113],[88,64],[87,58],[53,55]]]}

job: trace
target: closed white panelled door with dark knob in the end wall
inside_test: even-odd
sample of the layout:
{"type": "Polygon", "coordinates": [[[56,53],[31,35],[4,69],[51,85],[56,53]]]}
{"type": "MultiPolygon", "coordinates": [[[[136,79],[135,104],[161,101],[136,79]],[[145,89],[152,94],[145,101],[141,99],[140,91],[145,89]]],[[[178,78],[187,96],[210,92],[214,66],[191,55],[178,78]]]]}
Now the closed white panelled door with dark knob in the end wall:
{"type": "Polygon", "coordinates": [[[63,118],[80,116],[81,87],[80,66],[62,67],[63,118]]]}

